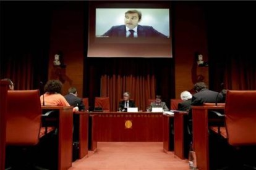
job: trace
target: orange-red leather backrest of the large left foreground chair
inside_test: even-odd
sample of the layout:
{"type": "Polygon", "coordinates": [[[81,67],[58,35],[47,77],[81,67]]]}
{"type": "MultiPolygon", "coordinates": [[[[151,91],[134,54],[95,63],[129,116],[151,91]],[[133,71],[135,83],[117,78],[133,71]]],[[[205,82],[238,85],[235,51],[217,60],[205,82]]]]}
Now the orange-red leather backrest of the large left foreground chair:
{"type": "Polygon", "coordinates": [[[41,127],[39,90],[8,91],[6,144],[35,145],[41,127]]]}

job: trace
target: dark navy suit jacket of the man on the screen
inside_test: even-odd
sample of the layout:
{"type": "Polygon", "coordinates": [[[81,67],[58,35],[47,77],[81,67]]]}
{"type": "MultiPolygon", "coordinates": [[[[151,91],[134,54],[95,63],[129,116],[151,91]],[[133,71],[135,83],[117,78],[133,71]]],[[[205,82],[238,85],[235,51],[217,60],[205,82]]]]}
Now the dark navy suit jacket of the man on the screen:
{"type": "MultiPolygon", "coordinates": [[[[167,38],[164,34],[156,31],[152,26],[138,25],[138,38],[140,37],[161,37],[167,38]]],[[[103,36],[126,37],[126,25],[112,26],[103,36]]]]}

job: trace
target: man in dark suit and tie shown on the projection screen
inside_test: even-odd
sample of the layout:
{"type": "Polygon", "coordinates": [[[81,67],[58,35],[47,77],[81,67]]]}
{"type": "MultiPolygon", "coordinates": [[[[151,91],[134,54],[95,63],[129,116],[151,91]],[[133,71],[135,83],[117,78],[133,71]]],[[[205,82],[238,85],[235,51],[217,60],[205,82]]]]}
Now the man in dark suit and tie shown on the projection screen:
{"type": "Polygon", "coordinates": [[[112,26],[103,36],[145,38],[159,37],[167,38],[164,34],[156,31],[152,26],[138,25],[142,20],[142,13],[139,10],[128,10],[125,13],[124,24],[112,26]]]}

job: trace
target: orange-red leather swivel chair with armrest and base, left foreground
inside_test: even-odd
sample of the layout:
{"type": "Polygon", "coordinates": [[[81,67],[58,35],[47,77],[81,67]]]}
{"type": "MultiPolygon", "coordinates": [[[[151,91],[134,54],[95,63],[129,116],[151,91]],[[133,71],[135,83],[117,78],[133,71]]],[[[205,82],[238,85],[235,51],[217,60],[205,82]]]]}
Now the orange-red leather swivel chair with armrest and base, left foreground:
{"type": "MultiPolygon", "coordinates": [[[[7,166],[15,166],[17,169],[32,168],[35,155],[31,153],[33,154],[40,138],[47,134],[46,129],[41,128],[41,114],[39,90],[7,92],[7,166]]],[[[48,132],[50,131],[51,128],[48,128],[48,132]]]]}

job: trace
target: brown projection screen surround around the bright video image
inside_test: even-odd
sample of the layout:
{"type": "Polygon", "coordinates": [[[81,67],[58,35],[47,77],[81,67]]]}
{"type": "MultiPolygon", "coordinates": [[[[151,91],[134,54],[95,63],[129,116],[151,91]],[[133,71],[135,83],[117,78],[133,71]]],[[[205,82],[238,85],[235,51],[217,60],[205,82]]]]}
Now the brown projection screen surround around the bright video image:
{"type": "Polygon", "coordinates": [[[136,58],[173,58],[171,2],[168,1],[90,1],[88,14],[87,57],[136,57],[136,58]],[[97,38],[96,9],[169,9],[169,38],[97,38]],[[150,40],[150,41],[149,41],[150,40]],[[118,42],[118,43],[117,43],[118,42]],[[158,42],[158,43],[155,43],[158,42]],[[141,49],[133,51],[126,49],[141,49]],[[117,46],[114,49],[114,46],[117,46]],[[95,51],[95,52],[93,52],[95,51]],[[114,54],[113,51],[115,52],[114,54]],[[146,53],[147,52],[147,53],[146,53]],[[108,54],[108,55],[106,55],[108,54]],[[110,54],[110,55],[109,55],[110,54]]]}

